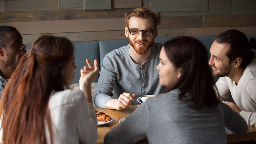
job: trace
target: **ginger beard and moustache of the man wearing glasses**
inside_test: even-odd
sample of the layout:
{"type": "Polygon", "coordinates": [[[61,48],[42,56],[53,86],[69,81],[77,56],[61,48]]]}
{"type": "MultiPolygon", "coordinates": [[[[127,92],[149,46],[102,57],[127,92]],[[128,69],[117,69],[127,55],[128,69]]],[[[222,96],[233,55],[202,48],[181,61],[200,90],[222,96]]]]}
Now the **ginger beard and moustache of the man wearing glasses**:
{"type": "Polygon", "coordinates": [[[135,50],[135,52],[138,54],[138,55],[144,55],[148,49],[150,49],[150,47],[152,47],[152,45],[154,44],[154,39],[153,41],[151,41],[150,43],[148,43],[148,45],[145,45],[144,47],[136,47],[135,43],[143,43],[143,42],[148,42],[148,41],[131,41],[129,39],[129,43],[131,44],[131,46],[133,47],[133,49],[135,50]]]}

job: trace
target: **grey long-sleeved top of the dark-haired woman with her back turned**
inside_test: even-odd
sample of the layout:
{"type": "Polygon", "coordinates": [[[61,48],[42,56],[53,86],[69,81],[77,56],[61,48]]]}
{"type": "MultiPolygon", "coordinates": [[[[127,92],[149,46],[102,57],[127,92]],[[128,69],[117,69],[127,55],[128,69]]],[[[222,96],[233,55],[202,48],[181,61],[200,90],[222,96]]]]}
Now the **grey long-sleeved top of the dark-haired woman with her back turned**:
{"type": "Polygon", "coordinates": [[[104,143],[131,143],[146,136],[149,143],[227,143],[225,126],[236,134],[247,132],[246,121],[224,103],[189,108],[192,97],[178,99],[178,90],[149,98],[121,124],[110,130],[104,143]]]}

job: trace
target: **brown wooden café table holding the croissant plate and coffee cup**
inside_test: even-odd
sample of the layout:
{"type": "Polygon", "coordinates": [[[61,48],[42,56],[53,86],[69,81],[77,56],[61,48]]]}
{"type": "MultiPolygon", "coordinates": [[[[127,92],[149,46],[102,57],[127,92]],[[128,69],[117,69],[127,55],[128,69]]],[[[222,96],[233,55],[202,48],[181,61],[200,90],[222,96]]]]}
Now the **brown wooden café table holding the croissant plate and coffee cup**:
{"type": "MultiPolygon", "coordinates": [[[[108,131],[119,124],[119,120],[121,118],[125,118],[132,113],[138,105],[130,105],[128,108],[123,110],[109,110],[105,108],[95,108],[95,110],[99,112],[104,112],[105,114],[109,115],[113,118],[113,121],[102,126],[98,126],[98,139],[97,144],[104,143],[104,137],[108,131]]],[[[226,134],[228,143],[239,142],[239,141],[249,141],[256,139],[256,127],[255,126],[248,126],[248,131],[245,135],[232,135],[226,134]]],[[[146,140],[139,142],[140,144],[148,143],[146,140]]]]}

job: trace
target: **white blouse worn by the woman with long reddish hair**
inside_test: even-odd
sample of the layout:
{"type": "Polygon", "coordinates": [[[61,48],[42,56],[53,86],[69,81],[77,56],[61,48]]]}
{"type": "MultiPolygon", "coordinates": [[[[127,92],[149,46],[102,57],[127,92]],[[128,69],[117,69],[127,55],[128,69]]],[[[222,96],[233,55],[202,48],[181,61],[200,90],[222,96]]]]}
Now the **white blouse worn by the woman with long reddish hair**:
{"type": "MultiPolygon", "coordinates": [[[[48,107],[52,120],[53,143],[79,144],[79,141],[96,143],[97,119],[95,110],[93,103],[87,103],[82,91],[71,89],[52,91],[48,107]]],[[[1,129],[1,142],[2,132],[1,129]]],[[[48,143],[50,143],[48,126],[46,126],[46,136],[48,143]]]]}

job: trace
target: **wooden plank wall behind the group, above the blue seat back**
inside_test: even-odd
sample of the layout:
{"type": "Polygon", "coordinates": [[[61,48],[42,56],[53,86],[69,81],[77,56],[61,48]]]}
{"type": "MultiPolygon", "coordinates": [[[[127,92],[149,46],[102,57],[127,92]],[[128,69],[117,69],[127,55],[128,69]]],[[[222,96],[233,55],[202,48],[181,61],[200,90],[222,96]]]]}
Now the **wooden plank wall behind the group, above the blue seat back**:
{"type": "Polygon", "coordinates": [[[17,28],[24,43],[42,34],[71,41],[127,39],[125,14],[147,7],[158,14],[158,37],[211,36],[229,29],[256,33],[255,0],[102,1],[104,5],[94,0],[0,0],[0,25],[17,28]]]}

